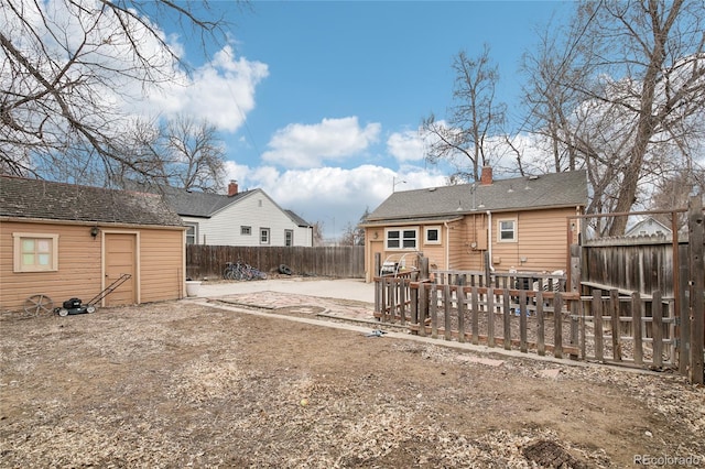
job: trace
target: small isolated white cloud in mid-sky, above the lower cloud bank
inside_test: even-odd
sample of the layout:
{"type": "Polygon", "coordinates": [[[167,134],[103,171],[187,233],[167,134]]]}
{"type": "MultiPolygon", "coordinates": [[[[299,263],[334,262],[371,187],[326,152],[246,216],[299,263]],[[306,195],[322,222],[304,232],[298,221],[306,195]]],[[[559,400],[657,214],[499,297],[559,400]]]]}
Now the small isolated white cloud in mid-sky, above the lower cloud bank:
{"type": "Polygon", "coordinates": [[[276,131],[262,160],[284,167],[316,167],[359,154],[379,138],[381,126],[361,128],[357,117],[323,119],[321,123],[292,123],[276,131]]]}

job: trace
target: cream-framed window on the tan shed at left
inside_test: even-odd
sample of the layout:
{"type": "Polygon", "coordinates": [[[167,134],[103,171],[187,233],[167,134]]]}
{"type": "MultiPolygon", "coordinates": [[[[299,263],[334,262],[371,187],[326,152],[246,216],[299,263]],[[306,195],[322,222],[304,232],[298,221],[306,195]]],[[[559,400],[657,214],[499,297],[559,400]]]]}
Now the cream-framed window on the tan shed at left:
{"type": "Polygon", "coordinates": [[[12,233],[14,272],[58,270],[58,234],[12,233]]]}

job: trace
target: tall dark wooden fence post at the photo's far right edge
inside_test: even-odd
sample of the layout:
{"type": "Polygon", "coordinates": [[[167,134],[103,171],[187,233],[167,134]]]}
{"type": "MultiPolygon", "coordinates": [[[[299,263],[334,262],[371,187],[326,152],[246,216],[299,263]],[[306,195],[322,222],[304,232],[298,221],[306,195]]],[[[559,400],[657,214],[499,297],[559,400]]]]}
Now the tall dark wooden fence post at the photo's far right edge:
{"type": "Polygon", "coordinates": [[[705,342],[705,260],[703,242],[705,242],[705,220],[703,220],[703,195],[691,197],[688,204],[688,255],[691,280],[691,368],[688,381],[703,384],[703,348],[705,342]]]}

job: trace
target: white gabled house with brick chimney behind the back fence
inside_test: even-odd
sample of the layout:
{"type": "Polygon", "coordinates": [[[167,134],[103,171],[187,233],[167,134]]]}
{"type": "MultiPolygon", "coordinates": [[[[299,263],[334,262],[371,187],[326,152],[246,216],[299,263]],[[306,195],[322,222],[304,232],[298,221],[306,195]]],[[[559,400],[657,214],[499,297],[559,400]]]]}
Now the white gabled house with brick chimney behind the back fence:
{"type": "Polygon", "coordinates": [[[188,244],[313,246],[313,227],[262,189],[239,192],[230,182],[228,195],[174,187],[163,195],[187,227],[188,244]]]}

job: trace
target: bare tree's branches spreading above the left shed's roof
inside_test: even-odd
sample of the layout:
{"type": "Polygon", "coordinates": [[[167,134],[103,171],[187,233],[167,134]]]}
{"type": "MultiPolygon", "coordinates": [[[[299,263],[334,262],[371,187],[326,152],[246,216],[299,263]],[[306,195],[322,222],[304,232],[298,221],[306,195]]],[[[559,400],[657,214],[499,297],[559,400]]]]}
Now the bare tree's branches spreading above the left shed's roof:
{"type": "Polygon", "coordinates": [[[121,103],[184,72],[159,21],[220,42],[224,22],[210,13],[207,3],[169,0],[3,0],[0,171],[56,179],[112,181],[124,168],[160,176],[161,164],[126,151],[135,128],[121,103]]]}

